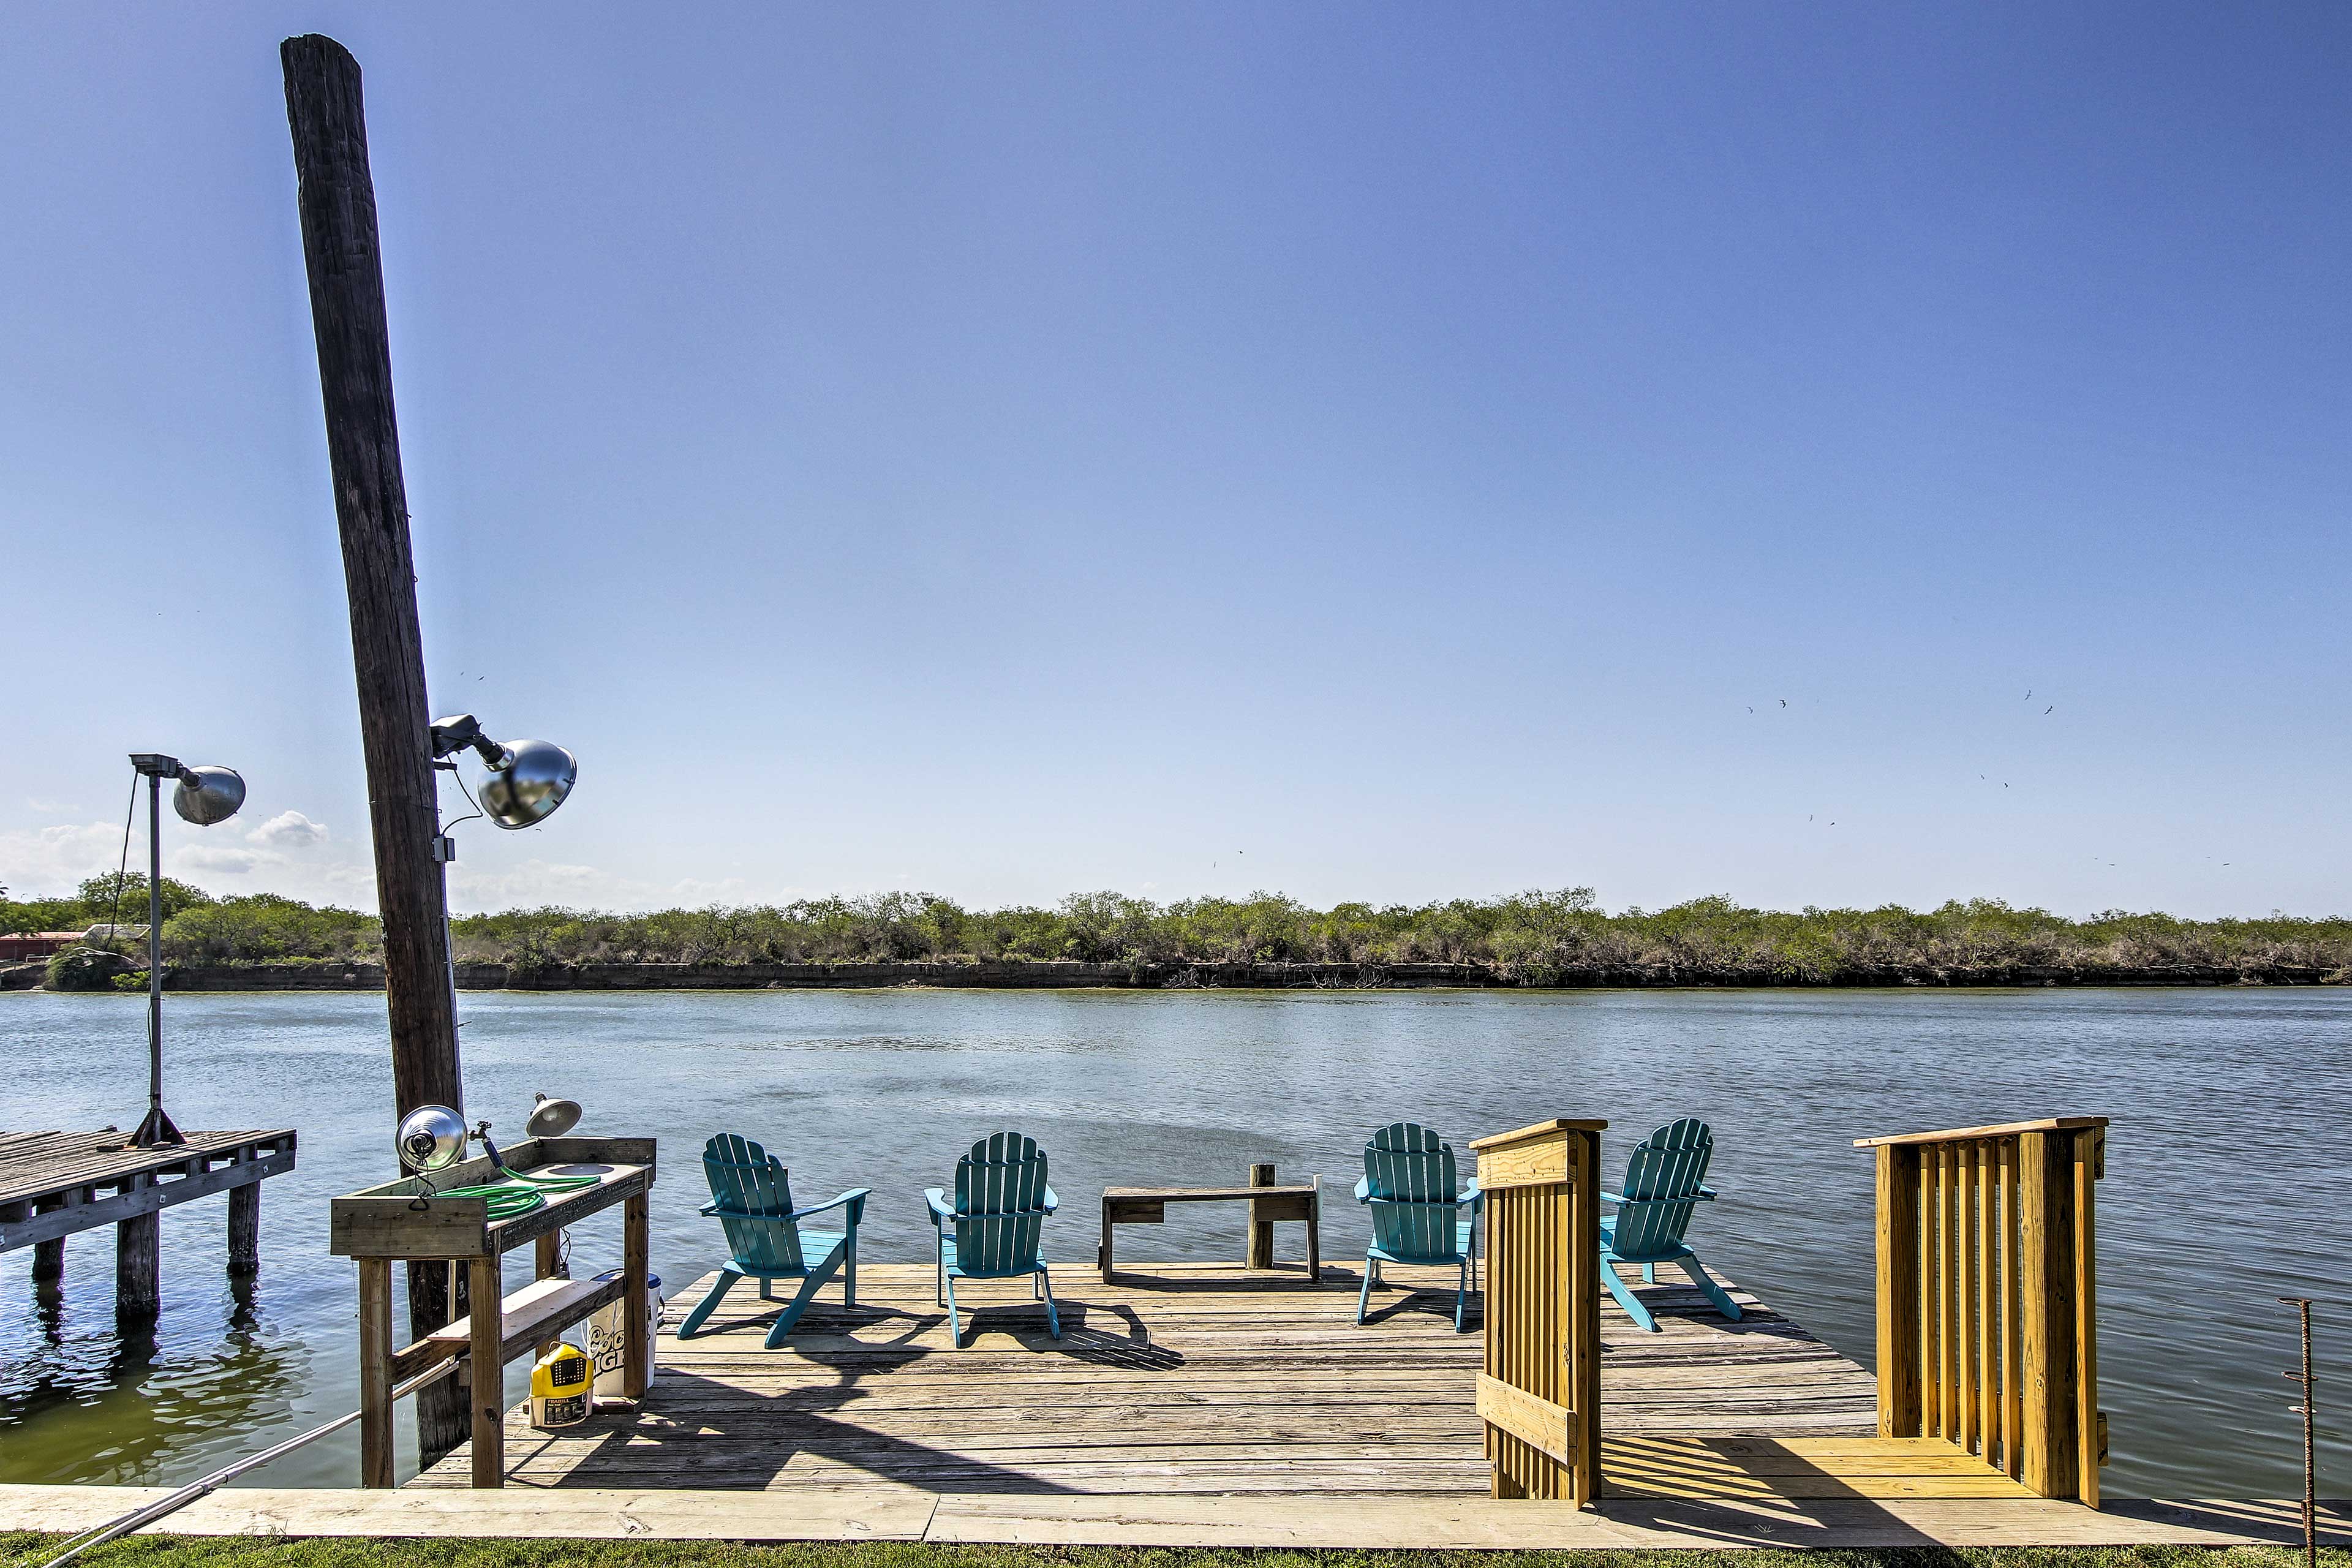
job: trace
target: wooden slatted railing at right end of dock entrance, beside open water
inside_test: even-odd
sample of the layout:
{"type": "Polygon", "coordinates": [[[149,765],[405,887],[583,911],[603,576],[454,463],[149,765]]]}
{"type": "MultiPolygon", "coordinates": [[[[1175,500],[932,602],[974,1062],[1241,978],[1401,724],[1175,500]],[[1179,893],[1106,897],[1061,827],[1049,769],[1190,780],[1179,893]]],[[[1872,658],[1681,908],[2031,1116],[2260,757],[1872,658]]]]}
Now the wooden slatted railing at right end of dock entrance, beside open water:
{"type": "Polygon", "coordinates": [[[1879,1434],[2098,1507],[2105,1117],[1858,1138],[1879,1161],[1879,1434]]]}

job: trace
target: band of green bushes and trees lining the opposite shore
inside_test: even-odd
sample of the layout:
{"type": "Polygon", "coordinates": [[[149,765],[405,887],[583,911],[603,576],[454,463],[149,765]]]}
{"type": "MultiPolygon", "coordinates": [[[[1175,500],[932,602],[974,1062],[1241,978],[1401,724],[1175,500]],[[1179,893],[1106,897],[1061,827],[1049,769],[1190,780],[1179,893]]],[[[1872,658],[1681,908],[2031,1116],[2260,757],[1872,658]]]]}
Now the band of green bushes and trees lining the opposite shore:
{"type": "MultiPolygon", "coordinates": [[[[59,931],[106,922],[115,877],[75,898],[0,896],[0,931],[59,931]]],[[[172,964],[350,964],[381,957],[374,914],[278,893],[216,898],[162,882],[172,964]]],[[[120,886],[120,919],[146,922],[146,877],[120,886]]],[[[654,910],[503,910],[452,922],[461,964],[1475,964],[1543,985],[1562,976],[1644,973],[1755,983],[1835,983],[1893,971],[2002,969],[2319,969],[2352,980],[2352,919],[2180,919],[2107,910],[2084,919],[1997,898],[1933,910],[1757,910],[1693,898],[1663,910],[1606,912],[1592,889],[1451,898],[1421,905],[1338,903],[1317,910],[1282,893],[1155,903],[1073,893],[1054,907],[967,910],[936,893],[804,898],[783,905],[654,910]]],[[[141,957],[118,936],[127,957],[141,957]]]]}

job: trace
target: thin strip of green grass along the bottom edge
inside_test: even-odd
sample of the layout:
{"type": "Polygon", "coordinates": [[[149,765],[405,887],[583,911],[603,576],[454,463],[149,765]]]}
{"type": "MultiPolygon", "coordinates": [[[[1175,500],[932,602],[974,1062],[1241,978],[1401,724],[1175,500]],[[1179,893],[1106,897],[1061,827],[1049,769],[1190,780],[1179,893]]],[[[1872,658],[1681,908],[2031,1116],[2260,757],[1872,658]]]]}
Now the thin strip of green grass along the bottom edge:
{"type": "MultiPolygon", "coordinates": [[[[64,1537],[0,1533],[9,1568],[35,1568],[64,1537]]],[[[2300,1547],[1978,1547],[1797,1552],[1294,1552],[1145,1547],[978,1547],[696,1540],[266,1540],[139,1535],[80,1561],[108,1568],[2293,1568],[2300,1547]]],[[[2326,1547],[2321,1568],[2352,1568],[2326,1547]]]]}

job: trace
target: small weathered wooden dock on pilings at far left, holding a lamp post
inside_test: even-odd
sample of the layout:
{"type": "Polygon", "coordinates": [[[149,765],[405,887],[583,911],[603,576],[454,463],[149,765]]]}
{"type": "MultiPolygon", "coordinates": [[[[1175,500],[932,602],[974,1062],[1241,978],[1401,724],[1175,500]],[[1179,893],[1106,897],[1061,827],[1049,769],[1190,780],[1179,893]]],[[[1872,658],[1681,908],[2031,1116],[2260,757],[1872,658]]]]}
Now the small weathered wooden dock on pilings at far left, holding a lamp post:
{"type": "Polygon", "coordinates": [[[129,1133],[0,1133],[0,1253],[33,1248],[33,1284],[66,1272],[66,1237],[115,1227],[115,1307],[153,1316],[162,1300],[158,1215],[228,1194],[228,1272],[261,1267],[261,1182],[294,1168],[294,1128],[183,1133],[139,1147],[129,1133]]]}

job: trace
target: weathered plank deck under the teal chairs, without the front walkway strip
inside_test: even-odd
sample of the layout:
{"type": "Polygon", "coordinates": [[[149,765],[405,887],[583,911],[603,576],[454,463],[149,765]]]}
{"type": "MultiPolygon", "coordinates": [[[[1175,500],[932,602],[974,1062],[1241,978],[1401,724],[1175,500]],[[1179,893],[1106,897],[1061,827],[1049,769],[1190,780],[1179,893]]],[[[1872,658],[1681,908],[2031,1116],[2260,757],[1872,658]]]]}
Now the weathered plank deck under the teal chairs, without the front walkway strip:
{"type": "MultiPolygon", "coordinates": [[[[974,1284],[948,1340],[929,1265],[868,1265],[783,1349],[781,1302],[748,1288],[694,1340],[661,1338],[642,1408],[534,1432],[508,1415],[506,1481],[536,1488],[1289,1500],[1479,1500],[1472,1385],[1482,1338],[1454,1333],[1451,1269],[1390,1269],[1355,1326],[1359,1274],[1122,1265],[1056,1272],[1063,1338],[1021,1284],[974,1284]],[[1442,1279],[1439,1279],[1442,1276],[1442,1279]]],[[[680,1291],[668,1324],[701,1300],[680,1291]]],[[[1604,1495],[1656,1500],[2030,1500],[1950,1443],[1877,1436],[1877,1385],[1733,1291],[1726,1321],[1684,1284],[1646,1286],[1663,1333],[1609,1302],[1604,1495]]],[[[1477,1307],[1477,1298],[1472,1298],[1477,1307]]],[[[466,1448],[412,1488],[470,1486],[466,1448]]]]}

